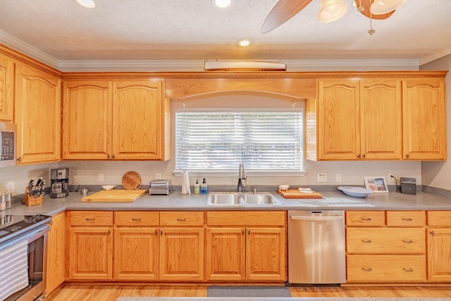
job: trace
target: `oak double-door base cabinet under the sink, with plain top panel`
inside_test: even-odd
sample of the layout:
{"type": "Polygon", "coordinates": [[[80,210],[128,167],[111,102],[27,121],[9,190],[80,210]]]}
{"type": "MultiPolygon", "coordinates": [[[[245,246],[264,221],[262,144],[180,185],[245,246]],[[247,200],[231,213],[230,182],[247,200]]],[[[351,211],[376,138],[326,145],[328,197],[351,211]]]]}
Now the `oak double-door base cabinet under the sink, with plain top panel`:
{"type": "Polygon", "coordinates": [[[284,211],[208,211],[206,216],[207,280],[286,280],[284,211]]]}

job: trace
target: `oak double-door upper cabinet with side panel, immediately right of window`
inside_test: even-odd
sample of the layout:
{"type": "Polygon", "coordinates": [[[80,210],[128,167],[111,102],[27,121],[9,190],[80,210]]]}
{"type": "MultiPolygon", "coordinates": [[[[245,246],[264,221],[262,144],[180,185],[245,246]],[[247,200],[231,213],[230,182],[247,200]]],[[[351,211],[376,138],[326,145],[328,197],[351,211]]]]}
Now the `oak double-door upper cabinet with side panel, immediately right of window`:
{"type": "Polygon", "coordinates": [[[319,80],[307,99],[307,159],[401,159],[401,85],[390,79],[319,80]]]}

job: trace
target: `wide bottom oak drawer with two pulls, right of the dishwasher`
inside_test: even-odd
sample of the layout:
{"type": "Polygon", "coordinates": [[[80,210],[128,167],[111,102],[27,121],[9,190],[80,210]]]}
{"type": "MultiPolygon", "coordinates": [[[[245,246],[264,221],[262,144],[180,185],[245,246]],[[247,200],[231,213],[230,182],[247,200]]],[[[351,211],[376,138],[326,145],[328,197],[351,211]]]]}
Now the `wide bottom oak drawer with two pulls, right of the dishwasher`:
{"type": "Polygon", "coordinates": [[[347,282],[426,281],[425,255],[348,255],[347,282]]]}

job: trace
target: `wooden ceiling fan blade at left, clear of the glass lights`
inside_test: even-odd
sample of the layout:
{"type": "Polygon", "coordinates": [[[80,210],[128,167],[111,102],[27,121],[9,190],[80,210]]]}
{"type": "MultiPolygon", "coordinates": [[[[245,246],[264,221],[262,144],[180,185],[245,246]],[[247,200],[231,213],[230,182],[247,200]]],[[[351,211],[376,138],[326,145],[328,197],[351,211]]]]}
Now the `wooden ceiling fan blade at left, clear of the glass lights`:
{"type": "Polygon", "coordinates": [[[302,11],[310,2],[311,0],[279,0],[261,26],[261,33],[276,29],[302,11]]]}

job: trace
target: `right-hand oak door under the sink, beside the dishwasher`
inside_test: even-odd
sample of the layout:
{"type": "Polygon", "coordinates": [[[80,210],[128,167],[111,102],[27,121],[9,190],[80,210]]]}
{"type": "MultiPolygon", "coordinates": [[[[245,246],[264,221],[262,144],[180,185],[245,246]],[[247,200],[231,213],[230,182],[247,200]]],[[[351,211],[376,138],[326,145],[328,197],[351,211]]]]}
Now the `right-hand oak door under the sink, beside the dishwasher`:
{"type": "Polygon", "coordinates": [[[285,229],[247,228],[246,279],[285,280],[285,229]]]}

